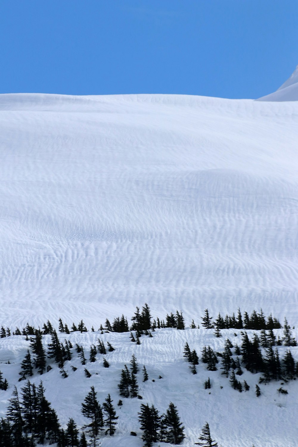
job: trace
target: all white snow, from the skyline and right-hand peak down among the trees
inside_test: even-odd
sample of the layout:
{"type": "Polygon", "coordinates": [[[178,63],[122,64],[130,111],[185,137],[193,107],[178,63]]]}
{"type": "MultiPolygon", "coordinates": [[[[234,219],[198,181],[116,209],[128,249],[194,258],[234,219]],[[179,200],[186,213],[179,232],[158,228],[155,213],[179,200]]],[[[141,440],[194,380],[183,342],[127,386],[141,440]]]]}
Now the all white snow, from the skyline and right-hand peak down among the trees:
{"type": "MultiPolygon", "coordinates": [[[[205,308],[216,317],[240,307],[272,312],[281,324],[286,316],[297,328],[295,76],[260,101],[0,95],[0,325],[13,331],[49,319],[58,328],[61,317],[70,327],[83,318],[97,330],[105,318],[130,319],[147,303],[153,317],[181,310],[187,326],[193,318],[201,323],[205,308]]],[[[69,417],[86,423],[80,407],[92,384],[100,402],[110,393],[119,423],[102,447],[141,447],[140,404],[162,413],[170,401],[185,425],[185,447],[198,441],[206,421],[222,447],[297,446],[296,382],[287,384],[288,395],[277,393],[279,382],[260,385],[257,398],[260,374],[244,372],[251,389],[242,393],[201,360],[191,374],[186,341],[199,356],[204,345],[223,350],[226,337],[240,344],[239,330],[223,330],[222,338],[213,332],[159,329],[140,346],[129,333],[105,333],[100,337],[116,348],[109,369],[97,356],[86,365],[87,379],[84,368],[71,371],[70,364],[80,366],[76,358],[66,379],[55,367],[33,380],[42,378],[62,424],[69,417]],[[119,409],[117,384],[133,353],[149,380],[138,373],[143,401],[123,399],[119,409]],[[208,377],[212,388],[205,390],[208,377]]],[[[98,335],[60,338],[88,354],[98,335]]],[[[9,383],[0,391],[0,417],[13,384],[24,386],[17,380],[27,348],[24,336],[0,339],[0,371],[9,383]]]]}

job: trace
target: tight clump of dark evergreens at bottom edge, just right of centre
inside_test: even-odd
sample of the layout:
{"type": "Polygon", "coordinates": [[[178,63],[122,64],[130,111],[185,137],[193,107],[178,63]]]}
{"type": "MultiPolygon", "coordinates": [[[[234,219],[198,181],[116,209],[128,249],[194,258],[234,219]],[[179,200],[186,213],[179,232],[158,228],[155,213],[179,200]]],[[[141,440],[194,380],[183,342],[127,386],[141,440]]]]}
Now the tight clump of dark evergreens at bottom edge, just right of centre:
{"type": "Polygon", "coordinates": [[[160,415],[154,405],[141,405],[139,422],[143,431],[142,439],[145,447],[151,447],[153,443],[164,442],[171,444],[181,444],[185,438],[184,426],[180,422],[180,417],[176,406],[170,402],[166,413],[160,415]]]}

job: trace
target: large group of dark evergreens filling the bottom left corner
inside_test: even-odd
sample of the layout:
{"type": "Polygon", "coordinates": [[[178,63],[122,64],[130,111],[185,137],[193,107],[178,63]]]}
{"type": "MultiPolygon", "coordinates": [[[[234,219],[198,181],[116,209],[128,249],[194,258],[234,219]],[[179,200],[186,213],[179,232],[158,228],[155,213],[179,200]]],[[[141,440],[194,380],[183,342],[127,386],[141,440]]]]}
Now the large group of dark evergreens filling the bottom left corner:
{"type": "Polygon", "coordinates": [[[102,405],[97,401],[97,392],[91,387],[82,403],[82,414],[90,423],[79,430],[70,418],[66,430],[61,428],[59,419],[50,402],[45,397],[42,381],[38,387],[29,380],[21,388],[19,398],[14,387],[12,398],[8,401],[7,417],[0,421],[0,447],[34,447],[36,443],[57,443],[58,447],[87,447],[85,430],[95,447],[101,431],[113,436],[117,419],[111,396],[102,405]]]}

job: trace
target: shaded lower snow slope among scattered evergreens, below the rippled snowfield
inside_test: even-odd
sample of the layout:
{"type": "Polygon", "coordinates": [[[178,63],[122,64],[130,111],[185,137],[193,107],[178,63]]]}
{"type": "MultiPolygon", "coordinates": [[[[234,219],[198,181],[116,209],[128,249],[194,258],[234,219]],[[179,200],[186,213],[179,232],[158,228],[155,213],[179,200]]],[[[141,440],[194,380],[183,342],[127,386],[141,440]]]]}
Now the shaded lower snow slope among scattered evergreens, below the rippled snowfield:
{"type": "MultiPolygon", "coordinates": [[[[224,350],[224,342],[227,337],[240,346],[240,330],[224,329],[222,338],[216,338],[214,329],[157,329],[152,333],[153,338],[141,337],[141,345],[136,346],[130,341],[129,333],[71,333],[59,334],[61,342],[65,338],[71,340],[73,346],[78,343],[83,346],[85,356],[88,358],[91,344],[97,344],[100,338],[105,346],[110,342],[115,350],[106,355],[97,354],[97,361],[85,366],[80,363],[75,349],[73,358],[65,363],[64,368],[68,377],[63,379],[59,374],[57,364],[52,363],[53,369],[42,376],[34,374],[30,382],[37,386],[42,379],[45,396],[57,411],[60,423],[65,428],[72,417],[81,428],[88,424],[88,420],[81,414],[81,403],[94,386],[97,399],[102,403],[110,393],[113,405],[119,416],[116,434],[113,438],[101,434],[101,447],[142,447],[142,432],[139,428],[138,412],[140,405],[154,405],[162,414],[172,401],[179,412],[181,422],[185,426],[185,441],[183,447],[191,447],[198,442],[201,428],[206,421],[210,425],[211,436],[222,447],[296,447],[297,446],[297,380],[284,383],[284,381],[271,381],[269,384],[260,385],[261,396],[256,397],[255,387],[261,374],[252,374],[243,368],[243,375],[237,379],[243,384],[246,380],[250,386],[247,392],[239,393],[229,383],[229,378],[221,374],[221,361],[219,359],[218,371],[207,371],[206,365],[201,361],[201,349],[203,346],[211,346],[215,351],[224,350]],[[236,334],[236,337],[235,337],[236,334]],[[189,370],[189,363],[183,358],[185,343],[191,350],[195,349],[200,357],[197,366],[197,374],[193,375],[189,370]],[[124,364],[130,367],[132,354],[139,363],[137,380],[139,384],[138,398],[123,398],[119,395],[117,385],[120,382],[121,370],[124,364]],[[103,357],[110,363],[109,368],[103,367],[103,357]],[[71,370],[71,365],[77,367],[77,371],[71,370]],[[149,379],[144,383],[142,368],[146,366],[149,379]],[[92,374],[90,378],[84,375],[84,368],[92,374]],[[159,379],[159,375],[162,379],[159,379]],[[211,388],[204,389],[204,382],[210,378],[211,388]],[[155,380],[152,382],[152,380],[155,380]],[[281,385],[282,383],[282,385],[281,385]],[[222,388],[221,388],[222,387],[222,388]],[[287,395],[280,394],[277,389],[282,387],[288,391],[287,395]],[[122,399],[122,407],[118,407],[119,399],[122,399]],[[137,437],[130,436],[130,431],[137,433],[137,437]]],[[[248,331],[252,338],[254,331],[248,331]]],[[[282,329],[274,331],[282,337],[282,329]]],[[[297,338],[298,330],[293,331],[297,338]]],[[[50,342],[50,336],[44,336],[44,345],[50,342]]],[[[8,399],[13,391],[13,384],[17,385],[20,392],[25,386],[25,381],[18,382],[20,363],[26,354],[29,342],[25,336],[12,336],[0,338],[0,370],[8,379],[7,391],[0,391],[0,417],[5,416],[8,399]],[[10,361],[11,364],[4,364],[10,361]]],[[[285,346],[279,347],[280,358],[283,357],[285,346]]],[[[295,360],[298,360],[298,347],[291,347],[295,360]]],[[[234,353],[234,350],[233,350],[234,353]]],[[[235,355],[234,355],[234,358],[235,355]]],[[[20,392],[21,396],[21,392],[20,392]]],[[[170,444],[155,443],[154,447],[170,447],[170,444]]]]}

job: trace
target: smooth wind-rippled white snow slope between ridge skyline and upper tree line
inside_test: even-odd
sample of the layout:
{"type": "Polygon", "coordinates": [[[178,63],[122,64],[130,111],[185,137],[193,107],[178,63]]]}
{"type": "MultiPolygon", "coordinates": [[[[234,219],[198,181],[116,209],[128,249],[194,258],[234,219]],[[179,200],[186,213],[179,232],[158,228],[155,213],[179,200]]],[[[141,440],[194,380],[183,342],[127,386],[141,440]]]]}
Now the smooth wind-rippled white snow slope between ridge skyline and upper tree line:
{"type": "Polygon", "coordinates": [[[298,103],[0,95],[0,324],[298,324],[298,103]]]}

